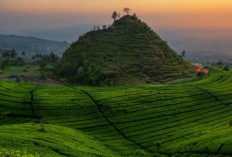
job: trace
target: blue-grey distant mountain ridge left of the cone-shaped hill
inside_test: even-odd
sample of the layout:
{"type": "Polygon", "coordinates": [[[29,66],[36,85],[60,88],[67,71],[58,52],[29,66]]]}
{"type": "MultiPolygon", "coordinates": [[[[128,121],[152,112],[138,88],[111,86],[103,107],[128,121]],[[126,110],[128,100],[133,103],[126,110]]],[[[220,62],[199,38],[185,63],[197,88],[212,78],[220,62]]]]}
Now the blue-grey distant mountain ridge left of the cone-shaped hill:
{"type": "Polygon", "coordinates": [[[17,35],[0,35],[0,50],[15,49],[16,52],[26,52],[30,55],[36,53],[50,53],[51,51],[61,56],[69,47],[69,43],[44,40],[35,37],[17,35]]]}

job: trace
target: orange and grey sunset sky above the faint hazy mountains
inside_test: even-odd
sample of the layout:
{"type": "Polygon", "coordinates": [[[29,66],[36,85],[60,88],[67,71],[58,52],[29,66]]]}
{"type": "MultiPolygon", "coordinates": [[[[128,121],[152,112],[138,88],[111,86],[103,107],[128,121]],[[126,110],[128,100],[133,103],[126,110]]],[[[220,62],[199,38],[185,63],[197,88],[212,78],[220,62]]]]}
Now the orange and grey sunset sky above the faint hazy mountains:
{"type": "Polygon", "coordinates": [[[232,0],[0,0],[0,29],[110,24],[112,11],[157,27],[232,27],[232,0]]]}

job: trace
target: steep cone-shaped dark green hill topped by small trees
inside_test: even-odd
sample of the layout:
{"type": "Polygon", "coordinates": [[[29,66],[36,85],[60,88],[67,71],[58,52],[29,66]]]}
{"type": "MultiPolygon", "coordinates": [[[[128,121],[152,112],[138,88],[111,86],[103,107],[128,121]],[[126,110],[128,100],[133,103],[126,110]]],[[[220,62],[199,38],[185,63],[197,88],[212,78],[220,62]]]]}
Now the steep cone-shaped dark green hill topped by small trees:
{"type": "Polygon", "coordinates": [[[136,16],[81,36],[66,50],[55,73],[88,85],[132,85],[184,77],[191,66],[136,16]]]}

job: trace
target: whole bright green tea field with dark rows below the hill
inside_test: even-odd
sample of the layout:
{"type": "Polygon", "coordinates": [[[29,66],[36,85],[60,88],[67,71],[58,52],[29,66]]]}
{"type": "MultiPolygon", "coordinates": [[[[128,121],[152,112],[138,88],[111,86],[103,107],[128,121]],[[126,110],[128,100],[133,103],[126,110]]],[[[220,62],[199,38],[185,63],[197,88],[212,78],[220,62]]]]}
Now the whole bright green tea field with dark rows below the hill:
{"type": "Polygon", "coordinates": [[[215,68],[200,80],[135,87],[2,81],[0,152],[4,148],[46,157],[232,156],[231,74],[215,68]]]}

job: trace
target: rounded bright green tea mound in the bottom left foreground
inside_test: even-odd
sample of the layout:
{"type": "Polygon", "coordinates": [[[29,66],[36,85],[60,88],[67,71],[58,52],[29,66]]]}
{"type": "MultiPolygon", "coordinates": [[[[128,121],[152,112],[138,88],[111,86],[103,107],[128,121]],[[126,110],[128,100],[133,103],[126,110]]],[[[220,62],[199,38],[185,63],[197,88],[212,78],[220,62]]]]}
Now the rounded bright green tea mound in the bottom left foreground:
{"type": "Polygon", "coordinates": [[[116,156],[91,136],[66,127],[39,124],[3,125],[0,145],[8,149],[35,152],[41,156],[116,156]]]}

